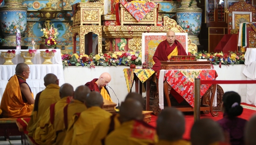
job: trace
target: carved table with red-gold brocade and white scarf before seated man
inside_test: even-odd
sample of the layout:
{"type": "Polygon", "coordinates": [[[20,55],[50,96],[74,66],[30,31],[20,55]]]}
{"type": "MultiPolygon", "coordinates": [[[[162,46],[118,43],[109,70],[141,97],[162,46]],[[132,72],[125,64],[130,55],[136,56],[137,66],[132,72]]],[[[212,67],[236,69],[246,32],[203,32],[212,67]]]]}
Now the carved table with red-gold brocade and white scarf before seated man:
{"type": "MultiPolygon", "coordinates": [[[[201,80],[215,80],[218,74],[215,70],[211,69],[197,69],[197,70],[160,70],[160,73],[157,75],[158,88],[159,88],[159,107],[163,109],[163,93],[166,95],[168,106],[171,106],[169,99],[170,89],[174,89],[186,102],[189,103],[191,107],[182,109],[182,111],[192,111],[194,108],[194,80],[195,78],[200,78],[201,80]],[[163,82],[166,81],[166,84],[163,82]],[[169,86],[171,88],[168,88],[169,86]]],[[[211,87],[212,84],[202,84],[200,90],[200,96],[204,96],[206,91],[211,87]]],[[[212,116],[216,116],[212,112],[212,102],[214,99],[216,84],[213,86],[213,93],[210,99],[210,106],[201,108],[201,110],[210,110],[212,116]]]]}

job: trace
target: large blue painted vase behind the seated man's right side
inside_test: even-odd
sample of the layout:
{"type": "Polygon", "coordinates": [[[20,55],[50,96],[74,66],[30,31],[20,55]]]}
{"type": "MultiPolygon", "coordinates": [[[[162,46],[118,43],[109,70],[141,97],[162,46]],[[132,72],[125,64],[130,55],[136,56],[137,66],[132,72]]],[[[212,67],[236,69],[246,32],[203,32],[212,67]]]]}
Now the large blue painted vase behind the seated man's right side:
{"type": "Polygon", "coordinates": [[[200,45],[198,35],[201,30],[202,9],[198,8],[194,0],[189,7],[190,0],[182,0],[181,7],[176,9],[177,23],[188,33],[191,42],[200,45]]]}

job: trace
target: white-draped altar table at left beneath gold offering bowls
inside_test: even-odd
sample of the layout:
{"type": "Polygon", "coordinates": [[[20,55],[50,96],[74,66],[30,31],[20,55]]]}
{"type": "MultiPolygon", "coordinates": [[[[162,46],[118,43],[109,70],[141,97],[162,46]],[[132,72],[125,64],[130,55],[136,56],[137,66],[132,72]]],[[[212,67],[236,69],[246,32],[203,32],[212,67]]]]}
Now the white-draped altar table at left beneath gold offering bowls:
{"type": "MultiPolygon", "coordinates": [[[[51,58],[52,64],[42,64],[44,58],[40,57],[40,51],[45,51],[46,49],[38,49],[35,57],[32,59],[33,64],[28,65],[30,69],[29,78],[26,79],[27,84],[31,88],[31,91],[34,93],[34,97],[37,93],[45,89],[44,86],[44,76],[48,73],[53,73],[59,79],[59,86],[65,83],[64,81],[64,71],[61,60],[61,50],[55,49],[55,56],[51,58]]],[[[50,51],[51,49],[49,49],[50,51]]],[[[0,50],[7,51],[7,50],[0,50]]],[[[0,101],[2,99],[4,90],[8,80],[15,75],[16,64],[24,62],[24,59],[20,56],[20,49],[16,49],[16,56],[12,59],[14,65],[0,65],[0,101]]],[[[28,51],[28,50],[25,50],[28,51]]],[[[4,63],[4,59],[0,57],[0,64],[4,63]]]]}

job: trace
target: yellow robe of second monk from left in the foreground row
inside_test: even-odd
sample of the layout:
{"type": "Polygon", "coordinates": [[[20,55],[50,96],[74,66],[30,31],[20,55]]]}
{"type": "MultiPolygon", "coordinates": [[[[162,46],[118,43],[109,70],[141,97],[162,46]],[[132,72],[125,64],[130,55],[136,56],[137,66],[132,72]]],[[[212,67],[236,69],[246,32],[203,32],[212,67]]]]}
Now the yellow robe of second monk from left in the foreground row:
{"type": "MultiPolygon", "coordinates": [[[[56,102],[53,115],[56,116],[57,111],[63,109],[65,105],[67,105],[67,97],[56,102]]],[[[50,108],[48,108],[40,120],[40,125],[35,129],[33,139],[39,145],[52,145],[54,143],[56,133],[53,124],[50,122],[50,115],[50,108]]]]}

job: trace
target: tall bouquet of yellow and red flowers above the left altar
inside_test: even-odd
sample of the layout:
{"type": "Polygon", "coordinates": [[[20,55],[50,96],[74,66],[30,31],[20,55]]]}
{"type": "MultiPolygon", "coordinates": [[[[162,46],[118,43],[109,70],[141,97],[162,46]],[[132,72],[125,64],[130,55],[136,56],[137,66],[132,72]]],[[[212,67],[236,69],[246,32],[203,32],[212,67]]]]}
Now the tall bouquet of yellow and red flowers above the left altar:
{"type": "Polygon", "coordinates": [[[54,25],[50,25],[50,26],[46,26],[46,28],[41,29],[41,31],[43,31],[43,36],[42,38],[44,38],[44,45],[47,46],[48,48],[54,48],[58,42],[56,41],[56,39],[58,38],[58,32],[57,29],[54,28],[54,25]]]}

